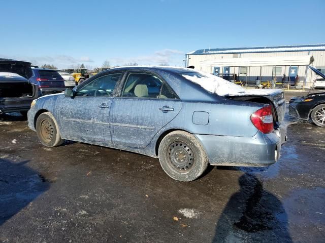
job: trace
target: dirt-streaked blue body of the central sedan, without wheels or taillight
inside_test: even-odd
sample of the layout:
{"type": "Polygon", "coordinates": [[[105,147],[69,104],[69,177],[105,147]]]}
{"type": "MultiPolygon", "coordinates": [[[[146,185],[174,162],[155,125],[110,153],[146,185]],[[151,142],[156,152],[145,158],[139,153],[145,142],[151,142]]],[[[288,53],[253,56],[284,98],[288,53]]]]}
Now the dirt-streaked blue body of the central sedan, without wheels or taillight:
{"type": "MultiPolygon", "coordinates": [[[[39,98],[28,112],[29,128],[36,131],[38,116],[50,112],[62,139],[158,157],[164,138],[182,131],[195,138],[210,165],[259,167],[275,163],[286,138],[283,92],[220,96],[191,82],[185,74],[199,75],[196,70],[172,67],[103,71],[66,95],[39,98]],[[110,87],[98,85],[105,76],[111,77],[110,87]],[[272,109],[272,131],[263,133],[253,125],[251,116],[266,106],[272,109]]],[[[177,156],[174,167],[179,166],[176,160],[182,159],[177,156]]],[[[185,167],[178,169],[186,171],[185,167]]]]}

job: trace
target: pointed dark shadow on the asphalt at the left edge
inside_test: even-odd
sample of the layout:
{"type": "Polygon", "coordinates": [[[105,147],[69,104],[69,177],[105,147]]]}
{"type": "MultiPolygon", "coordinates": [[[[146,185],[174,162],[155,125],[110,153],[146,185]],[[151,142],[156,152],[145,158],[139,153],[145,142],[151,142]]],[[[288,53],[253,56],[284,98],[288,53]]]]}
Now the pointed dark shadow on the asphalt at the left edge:
{"type": "Polygon", "coordinates": [[[50,187],[46,178],[27,163],[0,158],[0,226],[50,187]]]}

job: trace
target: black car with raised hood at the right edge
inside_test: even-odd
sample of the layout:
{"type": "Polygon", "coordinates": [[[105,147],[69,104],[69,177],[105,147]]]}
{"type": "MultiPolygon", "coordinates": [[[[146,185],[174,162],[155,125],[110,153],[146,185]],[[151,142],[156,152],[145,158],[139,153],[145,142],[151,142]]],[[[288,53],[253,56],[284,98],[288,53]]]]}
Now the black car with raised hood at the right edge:
{"type": "MultiPolygon", "coordinates": [[[[309,66],[317,75],[325,75],[314,67],[309,66]]],[[[299,119],[312,119],[314,124],[325,127],[325,92],[293,97],[289,101],[289,115],[299,119]]]]}

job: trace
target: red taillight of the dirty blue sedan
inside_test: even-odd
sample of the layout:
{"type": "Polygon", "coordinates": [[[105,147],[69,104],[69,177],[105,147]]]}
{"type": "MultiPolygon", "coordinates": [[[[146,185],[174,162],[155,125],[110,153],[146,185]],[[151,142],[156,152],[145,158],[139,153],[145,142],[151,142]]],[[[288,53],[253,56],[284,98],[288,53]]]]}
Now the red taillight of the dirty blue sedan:
{"type": "Polygon", "coordinates": [[[256,110],[251,116],[252,124],[262,133],[271,133],[273,128],[273,115],[271,105],[256,110]]]}

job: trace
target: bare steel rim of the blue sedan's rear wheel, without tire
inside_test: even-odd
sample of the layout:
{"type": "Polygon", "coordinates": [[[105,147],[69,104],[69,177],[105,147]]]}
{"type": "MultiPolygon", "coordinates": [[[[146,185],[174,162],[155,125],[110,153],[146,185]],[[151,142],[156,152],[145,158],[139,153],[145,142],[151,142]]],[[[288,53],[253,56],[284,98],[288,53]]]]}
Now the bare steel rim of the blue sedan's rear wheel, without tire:
{"type": "Polygon", "coordinates": [[[172,169],[186,172],[193,167],[195,156],[193,150],[184,142],[174,142],[168,148],[168,161],[172,169]]]}

